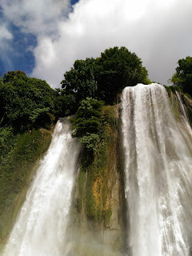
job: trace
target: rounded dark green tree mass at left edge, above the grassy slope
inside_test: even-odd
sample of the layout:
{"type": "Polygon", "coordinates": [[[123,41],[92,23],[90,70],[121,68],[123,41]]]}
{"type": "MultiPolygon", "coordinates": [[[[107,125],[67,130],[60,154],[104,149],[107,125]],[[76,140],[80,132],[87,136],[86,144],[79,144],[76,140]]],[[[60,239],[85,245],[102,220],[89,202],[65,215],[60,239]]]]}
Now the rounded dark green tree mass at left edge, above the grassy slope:
{"type": "Polygon", "coordinates": [[[20,128],[32,125],[46,113],[54,113],[54,90],[36,78],[28,78],[22,71],[9,71],[0,84],[2,126],[20,128]]]}

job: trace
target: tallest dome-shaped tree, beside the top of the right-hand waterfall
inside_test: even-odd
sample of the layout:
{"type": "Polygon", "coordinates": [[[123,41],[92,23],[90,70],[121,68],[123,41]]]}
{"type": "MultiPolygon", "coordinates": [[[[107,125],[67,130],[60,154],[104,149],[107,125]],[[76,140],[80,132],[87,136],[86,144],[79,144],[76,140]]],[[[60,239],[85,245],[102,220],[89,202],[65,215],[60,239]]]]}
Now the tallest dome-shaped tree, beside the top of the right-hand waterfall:
{"type": "Polygon", "coordinates": [[[96,59],[99,66],[98,98],[107,103],[113,103],[117,94],[126,86],[136,86],[138,83],[149,83],[147,70],[136,54],[126,47],[110,48],[96,59]]]}

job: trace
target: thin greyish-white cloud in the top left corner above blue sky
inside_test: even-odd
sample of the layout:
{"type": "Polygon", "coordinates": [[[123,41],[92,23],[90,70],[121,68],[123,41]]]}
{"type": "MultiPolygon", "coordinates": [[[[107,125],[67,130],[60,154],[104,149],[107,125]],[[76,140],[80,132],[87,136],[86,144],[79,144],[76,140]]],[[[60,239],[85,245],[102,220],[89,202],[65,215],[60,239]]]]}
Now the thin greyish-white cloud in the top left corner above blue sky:
{"type": "Polygon", "coordinates": [[[2,0],[6,19],[32,34],[53,34],[70,11],[70,0],[2,0]]]}

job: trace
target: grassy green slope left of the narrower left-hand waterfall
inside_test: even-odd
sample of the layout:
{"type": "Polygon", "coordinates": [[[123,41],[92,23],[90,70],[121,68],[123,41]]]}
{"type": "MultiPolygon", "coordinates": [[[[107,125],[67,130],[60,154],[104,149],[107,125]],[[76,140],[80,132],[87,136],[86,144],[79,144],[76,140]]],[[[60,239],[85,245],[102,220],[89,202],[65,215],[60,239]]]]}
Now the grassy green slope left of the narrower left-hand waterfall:
{"type": "MultiPolygon", "coordinates": [[[[1,144],[0,150],[0,245],[6,242],[26,197],[38,160],[42,158],[51,140],[51,131],[46,129],[28,130],[23,134],[2,130],[7,134],[8,131],[11,139],[1,144]]],[[[7,136],[2,138],[6,140],[7,136]]]]}

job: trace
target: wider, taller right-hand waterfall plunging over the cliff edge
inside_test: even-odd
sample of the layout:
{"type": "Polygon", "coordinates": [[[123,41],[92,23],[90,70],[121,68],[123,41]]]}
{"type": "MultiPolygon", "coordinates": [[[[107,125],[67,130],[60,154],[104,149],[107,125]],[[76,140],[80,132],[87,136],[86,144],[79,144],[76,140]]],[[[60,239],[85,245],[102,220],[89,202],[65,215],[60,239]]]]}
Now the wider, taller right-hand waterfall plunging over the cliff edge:
{"type": "MultiPolygon", "coordinates": [[[[178,103],[182,113],[180,98],[178,103]]],[[[127,246],[132,256],[190,255],[192,132],[186,115],[177,120],[173,112],[163,86],[123,90],[127,246]]]]}

